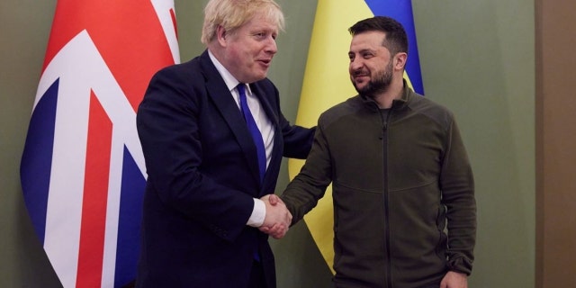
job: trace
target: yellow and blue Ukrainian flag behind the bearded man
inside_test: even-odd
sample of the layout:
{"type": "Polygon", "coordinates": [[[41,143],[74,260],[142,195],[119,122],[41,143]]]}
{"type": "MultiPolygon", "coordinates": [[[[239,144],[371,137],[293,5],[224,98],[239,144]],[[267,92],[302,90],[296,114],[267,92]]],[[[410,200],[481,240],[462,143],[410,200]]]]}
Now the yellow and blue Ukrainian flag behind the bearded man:
{"type": "MultiPolygon", "coordinates": [[[[404,26],[409,40],[409,56],[404,77],[414,91],[424,94],[410,0],[319,0],[296,124],[314,126],[321,112],[357,94],[348,75],[348,49],[352,38],[347,30],[356,22],[374,15],[390,16],[404,26]]],[[[298,174],[303,163],[302,160],[289,160],[291,178],[298,174]]],[[[330,186],[324,198],[304,220],[322,257],[334,274],[331,198],[330,186]]]]}

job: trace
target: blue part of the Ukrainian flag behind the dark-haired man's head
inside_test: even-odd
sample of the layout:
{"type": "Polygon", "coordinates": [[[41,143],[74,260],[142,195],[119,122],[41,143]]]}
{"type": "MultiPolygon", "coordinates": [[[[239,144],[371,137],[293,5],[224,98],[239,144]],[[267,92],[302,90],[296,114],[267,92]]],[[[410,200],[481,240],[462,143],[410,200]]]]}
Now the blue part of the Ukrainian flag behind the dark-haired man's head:
{"type": "Polygon", "coordinates": [[[419,94],[424,94],[418,43],[416,41],[416,28],[412,14],[412,2],[410,0],[365,0],[365,2],[375,16],[392,17],[404,26],[404,30],[408,34],[409,45],[406,73],[410,76],[410,82],[414,87],[414,91],[419,94]]]}

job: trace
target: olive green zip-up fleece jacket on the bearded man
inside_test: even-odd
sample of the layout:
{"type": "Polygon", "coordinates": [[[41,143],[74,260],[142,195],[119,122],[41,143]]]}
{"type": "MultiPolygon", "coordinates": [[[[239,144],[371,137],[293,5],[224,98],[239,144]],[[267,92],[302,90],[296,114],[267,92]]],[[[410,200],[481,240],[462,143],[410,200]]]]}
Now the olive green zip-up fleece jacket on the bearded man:
{"type": "Polygon", "coordinates": [[[454,115],[404,87],[385,118],[359,95],[323,112],[281,196],[295,223],[332,184],[336,287],[437,287],[472,272],[473,173],[454,115]]]}

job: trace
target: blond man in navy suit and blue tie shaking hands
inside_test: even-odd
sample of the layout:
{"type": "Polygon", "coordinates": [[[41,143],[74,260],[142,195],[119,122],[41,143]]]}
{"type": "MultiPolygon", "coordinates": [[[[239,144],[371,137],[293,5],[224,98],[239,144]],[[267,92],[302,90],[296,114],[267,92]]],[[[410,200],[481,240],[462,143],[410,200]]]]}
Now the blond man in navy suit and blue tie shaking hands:
{"type": "Polygon", "coordinates": [[[314,129],[291,125],[266,78],[284,15],[273,0],[211,0],[202,55],[151,79],[137,125],[148,172],[138,287],[275,287],[267,233],[282,157],[304,158],[314,129]],[[263,198],[264,197],[264,198],[263,198]],[[262,199],[260,199],[262,198],[262,199]]]}

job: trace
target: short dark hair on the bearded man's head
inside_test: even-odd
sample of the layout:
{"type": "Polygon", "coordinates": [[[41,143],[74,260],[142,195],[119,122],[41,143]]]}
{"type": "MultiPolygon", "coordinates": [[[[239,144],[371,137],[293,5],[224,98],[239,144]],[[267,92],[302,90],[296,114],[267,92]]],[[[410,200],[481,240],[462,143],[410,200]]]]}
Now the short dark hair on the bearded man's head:
{"type": "Polygon", "coordinates": [[[374,16],[361,20],[348,29],[352,36],[367,31],[383,31],[386,37],[383,47],[390,50],[392,55],[398,52],[408,53],[408,37],[404,27],[398,21],[386,16],[374,16]]]}

